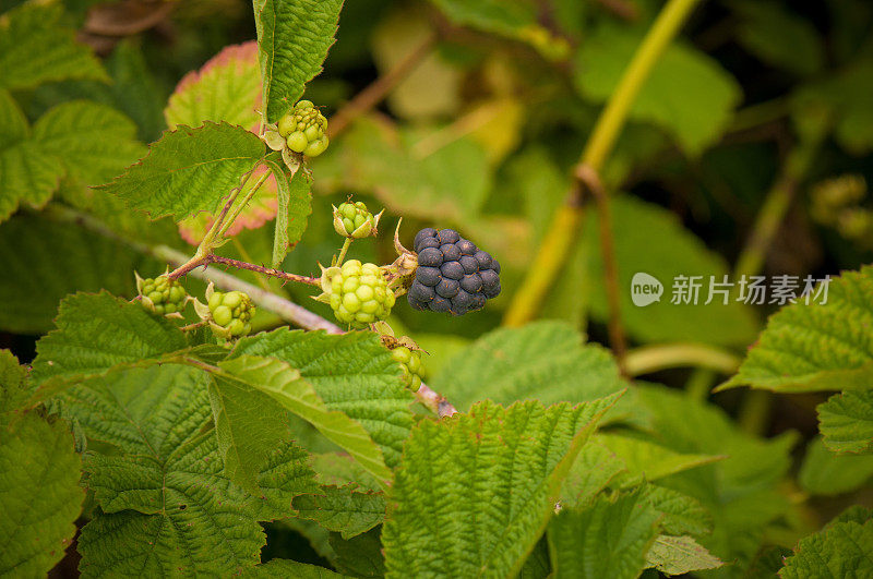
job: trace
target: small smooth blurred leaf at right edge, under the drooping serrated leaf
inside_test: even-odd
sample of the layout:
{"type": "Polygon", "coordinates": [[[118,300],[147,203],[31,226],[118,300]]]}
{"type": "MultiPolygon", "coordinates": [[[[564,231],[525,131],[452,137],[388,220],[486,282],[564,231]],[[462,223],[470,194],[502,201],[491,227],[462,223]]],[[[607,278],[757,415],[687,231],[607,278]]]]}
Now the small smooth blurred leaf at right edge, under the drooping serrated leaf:
{"type": "MultiPolygon", "coordinates": [[[[873,436],[871,436],[873,439],[873,436]]],[[[798,482],[808,493],[838,495],[873,479],[873,456],[835,455],[821,438],[806,447],[798,482]]]]}

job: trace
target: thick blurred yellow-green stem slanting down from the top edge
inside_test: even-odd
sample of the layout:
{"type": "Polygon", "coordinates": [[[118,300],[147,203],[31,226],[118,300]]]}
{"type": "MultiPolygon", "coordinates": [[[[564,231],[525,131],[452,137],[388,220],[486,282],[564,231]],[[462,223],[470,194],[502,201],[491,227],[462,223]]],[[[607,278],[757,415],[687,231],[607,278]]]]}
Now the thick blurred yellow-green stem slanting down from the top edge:
{"type": "MultiPolygon", "coordinates": [[[[698,1],[669,0],[658,14],[597,120],[579,160],[583,169],[600,173],[621,134],[639,89],[698,1]]],[[[584,215],[582,192],[583,188],[578,179],[575,179],[566,202],[552,217],[552,222],[547,229],[548,233],[528,268],[527,276],[513,295],[503,319],[505,325],[518,326],[531,319],[558,278],[571,248],[578,238],[584,215]]]]}

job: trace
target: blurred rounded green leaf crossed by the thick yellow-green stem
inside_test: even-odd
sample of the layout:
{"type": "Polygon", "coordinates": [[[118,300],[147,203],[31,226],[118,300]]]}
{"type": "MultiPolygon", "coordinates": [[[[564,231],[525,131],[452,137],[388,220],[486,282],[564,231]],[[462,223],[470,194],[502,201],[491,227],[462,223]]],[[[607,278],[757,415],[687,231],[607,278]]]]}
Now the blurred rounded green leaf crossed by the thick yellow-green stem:
{"type": "MultiPolygon", "coordinates": [[[[598,26],[582,45],[574,81],[583,97],[605,102],[643,39],[644,29],[598,26]]],[[[644,81],[631,118],[671,133],[682,149],[699,155],[721,136],[742,92],[721,65],[692,46],[669,46],[644,81]]]]}

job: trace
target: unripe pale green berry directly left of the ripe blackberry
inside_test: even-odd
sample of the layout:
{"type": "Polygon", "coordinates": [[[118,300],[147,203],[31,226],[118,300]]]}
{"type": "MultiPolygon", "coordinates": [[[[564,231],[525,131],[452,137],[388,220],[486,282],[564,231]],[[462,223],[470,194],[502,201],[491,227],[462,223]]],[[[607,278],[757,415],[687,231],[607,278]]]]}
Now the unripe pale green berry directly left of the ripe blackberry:
{"type": "Polygon", "coordinates": [[[339,322],[352,328],[385,319],[394,300],[394,292],[375,264],[349,260],[331,277],[331,309],[339,322]]]}

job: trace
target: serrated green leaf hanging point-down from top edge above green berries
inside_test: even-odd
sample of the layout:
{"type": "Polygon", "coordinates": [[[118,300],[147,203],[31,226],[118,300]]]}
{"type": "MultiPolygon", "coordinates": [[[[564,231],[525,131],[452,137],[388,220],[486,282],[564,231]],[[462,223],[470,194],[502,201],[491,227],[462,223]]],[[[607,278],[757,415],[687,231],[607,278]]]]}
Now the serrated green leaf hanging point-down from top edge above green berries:
{"type": "Polygon", "coordinates": [[[268,122],[278,121],[321,72],[343,0],[255,0],[259,60],[268,122]]]}

